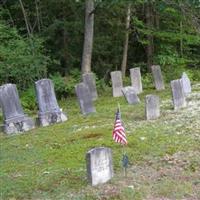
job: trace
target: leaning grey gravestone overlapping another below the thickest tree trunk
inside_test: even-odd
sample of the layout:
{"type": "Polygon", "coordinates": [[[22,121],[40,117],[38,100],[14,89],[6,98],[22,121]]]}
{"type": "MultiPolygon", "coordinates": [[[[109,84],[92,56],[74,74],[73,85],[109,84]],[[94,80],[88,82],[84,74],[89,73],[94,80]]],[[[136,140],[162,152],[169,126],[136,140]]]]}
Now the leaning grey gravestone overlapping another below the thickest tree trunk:
{"type": "Polygon", "coordinates": [[[75,90],[82,114],[96,112],[88,86],[85,83],[79,83],[75,86],[75,90]]]}

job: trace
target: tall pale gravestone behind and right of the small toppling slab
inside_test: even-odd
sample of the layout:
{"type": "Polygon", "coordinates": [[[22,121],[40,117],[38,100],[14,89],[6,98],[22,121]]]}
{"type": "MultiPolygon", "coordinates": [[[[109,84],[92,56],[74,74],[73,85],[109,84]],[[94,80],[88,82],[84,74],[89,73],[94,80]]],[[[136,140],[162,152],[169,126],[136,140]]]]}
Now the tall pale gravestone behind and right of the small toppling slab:
{"type": "Polygon", "coordinates": [[[142,80],[141,80],[141,73],[140,68],[132,68],[130,69],[131,75],[131,85],[134,88],[136,94],[140,94],[142,92],[142,80]]]}

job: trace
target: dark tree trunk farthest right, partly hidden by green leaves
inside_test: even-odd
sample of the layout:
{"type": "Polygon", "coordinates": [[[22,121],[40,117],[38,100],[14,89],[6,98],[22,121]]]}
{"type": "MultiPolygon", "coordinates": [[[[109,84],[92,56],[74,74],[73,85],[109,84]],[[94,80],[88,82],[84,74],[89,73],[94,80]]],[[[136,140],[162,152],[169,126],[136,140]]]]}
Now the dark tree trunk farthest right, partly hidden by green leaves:
{"type": "MultiPolygon", "coordinates": [[[[153,11],[152,11],[152,4],[150,1],[146,4],[146,24],[149,30],[152,30],[153,28],[153,11]]],[[[154,53],[154,44],[153,44],[153,35],[152,33],[149,33],[147,35],[147,48],[146,48],[146,54],[147,54],[147,69],[148,71],[151,71],[151,66],[153,64],[153,53],[154,53]]]]}

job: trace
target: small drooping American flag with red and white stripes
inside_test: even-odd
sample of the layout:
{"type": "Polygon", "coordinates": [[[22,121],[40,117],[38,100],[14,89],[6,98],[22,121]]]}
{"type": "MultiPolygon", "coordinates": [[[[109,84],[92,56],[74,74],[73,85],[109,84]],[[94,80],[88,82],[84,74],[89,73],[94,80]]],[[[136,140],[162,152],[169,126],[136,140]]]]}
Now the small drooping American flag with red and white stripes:
{"type": "Polygon", "coordinates": [[[116,112],[116,119],[115,119],[115,124],[114,124],[114,129],[113,129],[113,140],[120,144],[128,143],[126,140],[126,134],[124,131],[124,127],[121,122],[121,116],[120,116],[119,109],[117,109],[117,112],[116,112]]]}

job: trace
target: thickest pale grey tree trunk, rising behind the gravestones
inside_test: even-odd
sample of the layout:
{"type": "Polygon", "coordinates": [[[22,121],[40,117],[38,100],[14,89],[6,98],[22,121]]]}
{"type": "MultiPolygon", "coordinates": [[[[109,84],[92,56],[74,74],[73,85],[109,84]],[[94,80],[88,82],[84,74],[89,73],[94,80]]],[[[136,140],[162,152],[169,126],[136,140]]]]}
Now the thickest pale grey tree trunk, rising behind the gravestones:
{"type": "Polygon", "coordinates": [[[82,73],[91,72],[93,32],[94,32],[94,0],[86,0],[85,33],[81,70],[82,73]]]}

